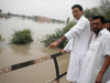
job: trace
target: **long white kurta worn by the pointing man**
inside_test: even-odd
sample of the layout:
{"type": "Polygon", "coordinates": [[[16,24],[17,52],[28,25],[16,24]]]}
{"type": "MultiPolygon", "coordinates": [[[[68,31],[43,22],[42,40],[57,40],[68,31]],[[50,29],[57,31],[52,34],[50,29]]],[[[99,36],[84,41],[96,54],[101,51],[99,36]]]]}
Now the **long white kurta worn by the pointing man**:
{"type": "Polygon", "coordinates": [[[82,15],[77,24],[65,34],[67,40],[70,40],[69,45],[67,45],[70,49],[70,60],[66,77],[68,81],[77,82],[78,80],[80,66],[88,50],[89,33],[89,21],[82,15]]]}

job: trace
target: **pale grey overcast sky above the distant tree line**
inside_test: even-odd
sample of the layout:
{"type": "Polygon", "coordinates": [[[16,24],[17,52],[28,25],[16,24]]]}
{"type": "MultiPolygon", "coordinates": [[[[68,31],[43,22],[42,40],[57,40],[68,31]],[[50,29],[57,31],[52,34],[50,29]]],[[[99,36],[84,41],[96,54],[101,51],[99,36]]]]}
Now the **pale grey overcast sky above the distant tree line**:
{"type": "Polygon", "coordinates": [[[3,13],[42,15],[52,19],[73,20],[72,7],[81,4],[84,9],[98,7],[100,0],[0,0],[3,13]]]}

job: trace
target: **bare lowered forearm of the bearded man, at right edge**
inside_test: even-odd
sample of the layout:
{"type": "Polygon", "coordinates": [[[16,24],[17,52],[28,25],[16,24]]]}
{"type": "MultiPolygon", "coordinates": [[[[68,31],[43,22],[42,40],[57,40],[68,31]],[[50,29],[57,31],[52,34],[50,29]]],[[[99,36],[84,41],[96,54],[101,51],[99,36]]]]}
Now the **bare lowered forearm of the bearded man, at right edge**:
{"type": "Polygon", "coordinates": [[[106,55],[106,60],[103,62],[101,70],[98,73],[98,76],[96,79],[96,83],[101,83],[102,76],[103,76],[105,72],[107,71],[107,69],[109,68],[109,64],[110,64],[110,56],[106,55]]]}

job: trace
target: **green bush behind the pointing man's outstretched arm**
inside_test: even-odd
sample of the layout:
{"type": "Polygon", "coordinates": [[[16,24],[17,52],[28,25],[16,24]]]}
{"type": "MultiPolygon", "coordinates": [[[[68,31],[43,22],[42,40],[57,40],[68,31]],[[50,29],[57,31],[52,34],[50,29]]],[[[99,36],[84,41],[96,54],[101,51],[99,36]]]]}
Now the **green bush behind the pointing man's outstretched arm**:
{"type": "MultiPolygon", "coordinates": [[[[68,25],[66,25],[63,29],[57,29],[55,30],[55,33],[52,34],[46,34],[44,38],[46,38],[45,40],[42,41],[42,43],[45,46],[48,46],[51,43],[53,43],[54,41],[58,40],[59,38],[62,38],[67,31],[69,31],[76,23],[75,22],[70,22],[68,25]]],[[[66,45],[67,41],[62,42],[58,44],[58,48],[64,48],[66,45]]]]}

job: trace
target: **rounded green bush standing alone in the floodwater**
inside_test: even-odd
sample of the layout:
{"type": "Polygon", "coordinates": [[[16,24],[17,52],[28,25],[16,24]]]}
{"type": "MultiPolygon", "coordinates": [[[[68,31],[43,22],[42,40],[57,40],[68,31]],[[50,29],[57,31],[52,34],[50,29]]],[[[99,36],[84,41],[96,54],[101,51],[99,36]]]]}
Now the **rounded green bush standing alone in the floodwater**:
{"type": "Polygon", "coordinates": [[[14,44],[26,44],[33,41],[31,30],[29,29],[24,29],[23,31],[14,31],[12,37],[12,43],[14,44]]]}

